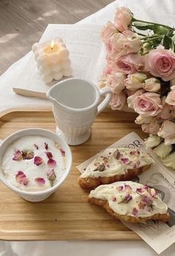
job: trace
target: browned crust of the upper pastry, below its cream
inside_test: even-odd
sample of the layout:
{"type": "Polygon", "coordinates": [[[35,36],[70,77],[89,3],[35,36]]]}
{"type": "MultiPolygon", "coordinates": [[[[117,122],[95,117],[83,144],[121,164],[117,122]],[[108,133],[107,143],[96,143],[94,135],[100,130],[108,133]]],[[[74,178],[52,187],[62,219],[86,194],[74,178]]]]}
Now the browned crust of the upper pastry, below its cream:
{"type": "Polygon", "coordinates": [[[79,178],[78,183],[81,187],[83,187],[86,190],[94,189],[95,187],[98,187],[102,184],[111,184],[116,181],[130,181],[133,178],[135,178],[137,175],[141,174],[142,172],[146,171],[150,165],[141,166],[136,169],[128,169],[127,172],[120,175],[114,175],[111,177],[98,177],[98,178],[92,178],[92,177],[86,177],[86,178],[79,178]]]}

